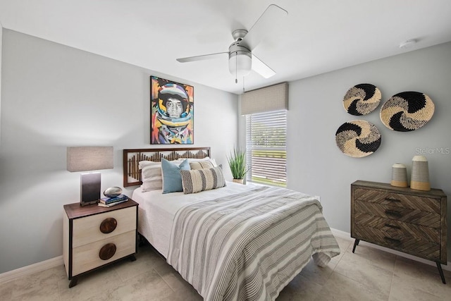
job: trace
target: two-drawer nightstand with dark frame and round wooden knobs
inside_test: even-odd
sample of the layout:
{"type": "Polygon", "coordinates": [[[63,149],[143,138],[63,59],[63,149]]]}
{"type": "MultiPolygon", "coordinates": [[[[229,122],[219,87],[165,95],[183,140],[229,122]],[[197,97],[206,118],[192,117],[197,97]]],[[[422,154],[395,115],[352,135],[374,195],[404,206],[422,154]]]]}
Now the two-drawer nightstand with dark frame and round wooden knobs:
{"type": "Polygon", "coordinates": [[[63,260],[69,288],[89,271],[124,258],[136,260],[137,207],[132,199],[109,208],[64,205],[63,260]]]}

